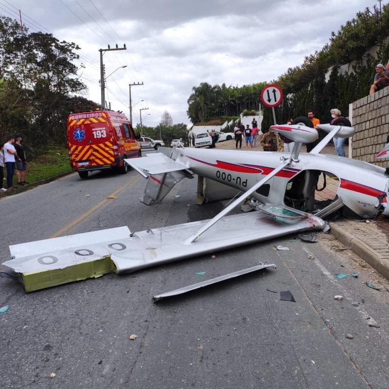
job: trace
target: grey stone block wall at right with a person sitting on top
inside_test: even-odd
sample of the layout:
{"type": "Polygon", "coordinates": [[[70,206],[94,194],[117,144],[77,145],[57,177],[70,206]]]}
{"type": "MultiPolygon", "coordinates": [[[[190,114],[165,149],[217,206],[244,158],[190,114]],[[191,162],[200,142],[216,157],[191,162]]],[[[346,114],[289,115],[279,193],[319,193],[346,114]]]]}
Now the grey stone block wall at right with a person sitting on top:
{"type": "Polygon", "coordinates": [[[351,121],[355,128],[351,148],[354,159],[387,167],[387,159],[376,159],[389,135],[389,87],[350,104],[351,121]]]}

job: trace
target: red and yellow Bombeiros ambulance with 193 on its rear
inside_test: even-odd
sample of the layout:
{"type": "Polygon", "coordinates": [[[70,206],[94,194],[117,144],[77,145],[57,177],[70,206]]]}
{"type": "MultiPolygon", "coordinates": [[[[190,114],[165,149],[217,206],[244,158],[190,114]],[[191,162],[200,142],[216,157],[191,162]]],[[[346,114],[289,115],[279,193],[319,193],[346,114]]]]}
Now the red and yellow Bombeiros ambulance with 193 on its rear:
{"type": "Polygon", "coordinates": [[[81,178],[88,172],[117,168],[127,173],[124,158],[141,157],[140,134],[123,113],[93,111],[69,115],[68,149],[71,169],[81,178]]]}

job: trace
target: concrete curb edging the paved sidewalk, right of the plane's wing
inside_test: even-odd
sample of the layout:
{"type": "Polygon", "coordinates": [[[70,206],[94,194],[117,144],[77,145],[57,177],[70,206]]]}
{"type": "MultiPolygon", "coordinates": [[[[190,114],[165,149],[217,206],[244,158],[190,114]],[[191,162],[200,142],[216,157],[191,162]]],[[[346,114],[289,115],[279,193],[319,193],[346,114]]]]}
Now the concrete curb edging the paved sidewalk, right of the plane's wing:
{"type": "Polygon", "coordinates": [[[381,273],[385,278],[389,279],[389,263],[384,260],[377,251],[355,237],[352,233],[346,231],[344,226],[332,223],[331,233],[340,243],[347,248],[350,248],[356,255],[374,267],[374,269],[381,273]]]}

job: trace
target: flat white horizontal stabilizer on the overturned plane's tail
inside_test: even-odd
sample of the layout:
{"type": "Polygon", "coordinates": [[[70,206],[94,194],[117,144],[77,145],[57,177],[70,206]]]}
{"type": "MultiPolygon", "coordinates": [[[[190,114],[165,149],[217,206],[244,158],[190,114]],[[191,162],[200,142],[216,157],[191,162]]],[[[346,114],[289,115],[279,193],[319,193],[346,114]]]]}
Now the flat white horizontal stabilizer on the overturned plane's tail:
{"type": "Polygon", "coordinates": [[[187,166],[176,162],[162,153],[147,154],[146,157],[124,160],[138,172],[141,170],[149,176],[188,169],[187,166]]]}

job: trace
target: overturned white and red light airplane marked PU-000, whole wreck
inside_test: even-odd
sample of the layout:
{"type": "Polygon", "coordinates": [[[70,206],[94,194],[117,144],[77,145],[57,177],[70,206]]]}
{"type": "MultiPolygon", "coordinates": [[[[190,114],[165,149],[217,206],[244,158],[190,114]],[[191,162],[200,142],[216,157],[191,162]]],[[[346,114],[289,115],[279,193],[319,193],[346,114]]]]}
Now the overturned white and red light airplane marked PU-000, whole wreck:
{"type": "Polygon", "coordinates": [[[195,175],[212,182],[210,198],[226,188],[232,188],[236,198],[210,220],[133,233],[120,227],[13,245],[12,259],[4,265],[20,274],[28,292],[110,271],[132,272],[289,233],[328,229],[323,218],[342,207],[363,218],[388,215],[389,177],[384,168],[319,154],[335,135],[353,136],[354,128],[318,127],[328,134],[310,154],[300,154],[301,144],[315,141],[317,130],[294,124],[272,126],[295,141],[291,154],[161,147],[157,154],[126,159],[147,178],[141,198],[144,204],[161,202],[177,182],[195,175]],[[334,198],[315,198],[321,190],[319,178],[321,189],[329,179],[337,182],[334,198]],[[252,212],[228,215],[244,201],[243,209],[252,212]],[[210,228],[212,235],[205,234],[210,228]]]}

